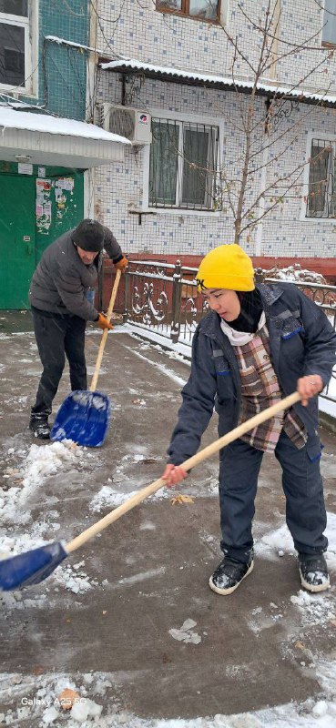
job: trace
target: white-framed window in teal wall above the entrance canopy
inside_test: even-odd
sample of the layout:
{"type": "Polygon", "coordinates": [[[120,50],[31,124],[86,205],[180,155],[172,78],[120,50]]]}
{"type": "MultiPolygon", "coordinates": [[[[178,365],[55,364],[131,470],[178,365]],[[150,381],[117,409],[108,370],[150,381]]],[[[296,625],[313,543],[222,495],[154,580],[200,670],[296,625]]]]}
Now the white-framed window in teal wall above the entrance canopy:
{"type": "Polygon", "coordinates": [[[0,0],[0,86],[32,90],[35,53],[28,0],[0,0]]]}

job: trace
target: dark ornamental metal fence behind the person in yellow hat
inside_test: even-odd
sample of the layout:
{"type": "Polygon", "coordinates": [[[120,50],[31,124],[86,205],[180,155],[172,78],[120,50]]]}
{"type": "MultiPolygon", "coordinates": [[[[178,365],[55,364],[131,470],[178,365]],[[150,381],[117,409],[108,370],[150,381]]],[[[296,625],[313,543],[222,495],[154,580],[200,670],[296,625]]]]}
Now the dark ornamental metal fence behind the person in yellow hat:
{"type": "MultiPolygon", "coordinates": [[[[199,320],[208,310],[206,301],[198,295],[195,281],[197,268],[182,266],[177,260],[160,263],[154,260],[129,260],[125,276],[124,320],[143,332],[156,332],[174,343],[191,347],[199,320]]],[[[265,278],[256,271],[257,282],[280,283],[276,278],[265,278]]],[[[282,281],[283,282],[283,281],[282,281]]],[[[295,282],[300,290],[323,308],[336,329],[336,286],[295,282]]],[[[326,399],[336,400],[336,369],[331,382],[323,392],[326,399]]]]}

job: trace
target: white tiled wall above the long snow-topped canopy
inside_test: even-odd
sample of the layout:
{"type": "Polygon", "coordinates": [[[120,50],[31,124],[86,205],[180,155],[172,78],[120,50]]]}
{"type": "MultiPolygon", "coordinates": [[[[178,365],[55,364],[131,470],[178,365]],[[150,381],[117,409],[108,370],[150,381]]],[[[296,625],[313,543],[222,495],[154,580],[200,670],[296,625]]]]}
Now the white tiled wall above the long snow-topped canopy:
{"type": "MultiPolygon", "coordinates": [[[[319,66],[330,55],[321,48],[322,3],[323,0],[280,0],[278,54],[286,57],[277,69],[277,80],[291,85],[305,79],[307,88],[336,93],[336,59],[319,66]],[[292,54],[288,55],[290,51],[292,54]],[[316,71],[307,77],[312,68],[316,71]]],[[[229,35],[237,37],[239,48],[253,65],[261,38],[253,24],[259,25],[260,18],[262,21],[267,0],[221,0],[221,5],[229,35]]],[[[160,13],[155,0],[100,0],[98,12],[97,47],[105,50],[107,56],[127,56],[222,76],[231,74],[232,45],[220,25],[160,13]]],[[[241,57],[235,72],[237,77],[250,76],[249,65],[241,57]]]]}

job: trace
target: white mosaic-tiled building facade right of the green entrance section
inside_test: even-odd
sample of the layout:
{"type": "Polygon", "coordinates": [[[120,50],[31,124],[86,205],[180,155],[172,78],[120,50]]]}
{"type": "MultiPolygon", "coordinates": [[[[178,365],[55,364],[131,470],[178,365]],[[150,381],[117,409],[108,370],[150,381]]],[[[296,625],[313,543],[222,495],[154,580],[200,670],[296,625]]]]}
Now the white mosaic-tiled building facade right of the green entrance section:
{"type": "Polygon", "coordinates": [[[135,143],[96,170],[96,214],[128,254],[233,242],[245,174],[239,242],[255,262],[313,260],[336,280],[333,5],[98,0],[97,120],[125,136],[129,122],[135,143]]]}

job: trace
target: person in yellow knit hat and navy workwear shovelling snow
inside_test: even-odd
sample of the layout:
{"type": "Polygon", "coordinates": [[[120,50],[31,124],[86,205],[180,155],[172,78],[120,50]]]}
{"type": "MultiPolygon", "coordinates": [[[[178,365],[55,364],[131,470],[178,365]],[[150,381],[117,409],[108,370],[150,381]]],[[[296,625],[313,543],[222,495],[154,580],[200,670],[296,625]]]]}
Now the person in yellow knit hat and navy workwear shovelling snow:
{"type": "Polygon", "coordinates": [[[318,394],[331,378],[336,334],[321,308],[295,285],[256,287],[252,262],[238,245],[210,250],[197,283],[210,311],[194,334],[191,372],[162,477],[173,486],[187,476],[181,463],[199,449],[214,407],[221,437],[297,389],[300,403],[220,450],[223,558],[209,586],[230,594],[253,569],[260,465],[264,453],[273,453],[282,469],[301,584],[308,591],[328,589],[318,394]]]}

